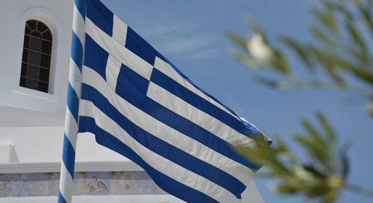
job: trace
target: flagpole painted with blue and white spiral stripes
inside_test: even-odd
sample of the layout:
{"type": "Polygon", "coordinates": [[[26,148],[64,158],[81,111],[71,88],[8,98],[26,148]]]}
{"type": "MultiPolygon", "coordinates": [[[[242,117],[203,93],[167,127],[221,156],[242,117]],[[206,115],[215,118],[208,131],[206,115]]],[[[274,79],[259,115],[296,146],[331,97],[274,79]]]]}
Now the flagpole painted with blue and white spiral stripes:
{"type": "Polygon", "coordinates": [[[82,86],[81,78],[84,54],[85,17],[86,0],[74,0],[65,133],[61,163],[60,190],[58,195],[59,203],[70,203],[72,196],[79,98],[82,86]]]}

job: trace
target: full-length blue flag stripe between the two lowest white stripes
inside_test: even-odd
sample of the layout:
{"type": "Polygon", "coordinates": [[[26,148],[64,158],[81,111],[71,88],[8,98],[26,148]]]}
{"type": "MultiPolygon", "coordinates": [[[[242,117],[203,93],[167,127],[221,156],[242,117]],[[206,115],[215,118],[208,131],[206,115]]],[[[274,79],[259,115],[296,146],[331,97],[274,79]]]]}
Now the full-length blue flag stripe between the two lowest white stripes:
{"type": "MultiPolygon", "coordinates": [[[[136,124],[124,117],[109,100],[104,97],[95,88],[84,84],[82,86],[82,99],[90,100],[104,114],[113,119],[121,126],[132,138],[149,150],[159,154],[168,160],[187,168],[200,176],[226,188],[237,198],[241,198],[241,193],[246,186],[236,178],[221,171],[219,168],[212,166],[200,159],[166,143],[165,141],[153,136],[149,132],[140,128],[136,124]],[[166,150],[167,149],[167,150],[166,150]]],[[[80,128],[79,128],[80,129],[80,128]]],[[[203,136],[199,134],[199,136],[203,136]]]]}

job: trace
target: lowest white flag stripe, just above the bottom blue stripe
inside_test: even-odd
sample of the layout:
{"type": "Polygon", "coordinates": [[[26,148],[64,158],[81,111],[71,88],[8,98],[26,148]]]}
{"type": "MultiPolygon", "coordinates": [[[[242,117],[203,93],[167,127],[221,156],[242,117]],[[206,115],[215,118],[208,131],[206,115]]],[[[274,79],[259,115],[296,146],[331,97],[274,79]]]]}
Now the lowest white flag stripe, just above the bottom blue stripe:
{"type": "Polygon", "coordinates": [[[146,163],[153,167],[158,172],[184,184],[194,188],[219,202],[236,201],[236,196],[225,188],[205,179],[198,174],[195,174],[185,168],[175,164],[174,162],[159,156],[148,148],[142,146],[135,139],[133,139],[125,130],[123,130],[115,121],[106,116],[103,112],[97,109],[91,101],[81,100],[82,116],[98,117],[96,124],[106,132],[109,132],[129,148],[134,150],[141,156],[146,163]]]}

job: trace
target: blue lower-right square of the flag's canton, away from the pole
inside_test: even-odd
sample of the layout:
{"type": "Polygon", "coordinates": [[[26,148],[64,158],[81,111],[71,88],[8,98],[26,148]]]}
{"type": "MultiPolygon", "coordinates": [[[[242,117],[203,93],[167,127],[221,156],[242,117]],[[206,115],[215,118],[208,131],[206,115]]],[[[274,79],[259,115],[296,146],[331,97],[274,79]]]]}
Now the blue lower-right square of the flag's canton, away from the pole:
{"type": "Polygon", "coordinates": [[[132,71],[124,64],[121,66],[118,78],[115,93],[131,105],[141,109],[146,98],[149,80],[132,71]]]}

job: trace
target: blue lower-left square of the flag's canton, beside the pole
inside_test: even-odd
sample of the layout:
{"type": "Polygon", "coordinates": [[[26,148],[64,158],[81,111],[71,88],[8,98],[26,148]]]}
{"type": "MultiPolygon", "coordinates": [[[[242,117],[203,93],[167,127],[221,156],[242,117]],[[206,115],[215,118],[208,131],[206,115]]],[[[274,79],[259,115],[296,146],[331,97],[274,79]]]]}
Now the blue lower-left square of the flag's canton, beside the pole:
{"type": "Polygon", "coordinates": [[[108,63],[109,53],[102,49],[87,34],[85,43],[84,65],[96,71],[104,80],[106,80],[106,64],[108,63]]]}

